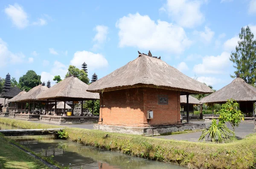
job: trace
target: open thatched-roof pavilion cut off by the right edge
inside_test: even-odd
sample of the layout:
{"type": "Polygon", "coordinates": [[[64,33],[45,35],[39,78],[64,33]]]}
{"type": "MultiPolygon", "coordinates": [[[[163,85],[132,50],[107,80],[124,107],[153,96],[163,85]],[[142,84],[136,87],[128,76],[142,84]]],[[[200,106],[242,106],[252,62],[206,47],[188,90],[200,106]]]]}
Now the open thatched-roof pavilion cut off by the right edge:
{"type": "Polygon", "coordinates": [[[247,116],[255,116],[253,104],[256,102],[256,88],[247,84],[239,77],[239,74],[237,74],[236,79],[234,79],[230,84],[224,86],[211,95],[202,98],[200,102],[223,104],[226,103],[228,99],[236,100],[239,103],[241,112],[247,116]]]}

